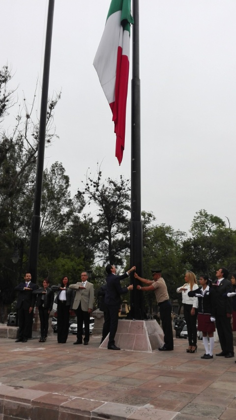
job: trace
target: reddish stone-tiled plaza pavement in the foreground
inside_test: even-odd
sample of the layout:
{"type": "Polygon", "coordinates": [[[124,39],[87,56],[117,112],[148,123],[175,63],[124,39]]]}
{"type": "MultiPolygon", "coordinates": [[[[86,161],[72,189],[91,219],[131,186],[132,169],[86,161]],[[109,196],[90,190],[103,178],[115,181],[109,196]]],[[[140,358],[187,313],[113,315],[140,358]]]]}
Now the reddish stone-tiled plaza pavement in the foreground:
{"type": "MultiPolygon", "coordinates": [[[[29,400],[37,401],[34,415],[41,406],[47,420],[55,419],[52,400],[60,406],[59,420],[89,419],[88,410],[95,410],[92,419],[236,419],[234,358],[201,359],[202,341],[195,354],[186,353],[181,339],[173,352],[151,354],[99,349],[100,339],[73,346],[73,335],[66,344],[58,344],[56,335],[46,343],[0,338],[0,420],[14,418],[17,401],[15,410],[21,407],[23,414],[15,417],[27,419],[29,400]]],[[[217,343],[214,354],[219,351],[217,343]]]]}

